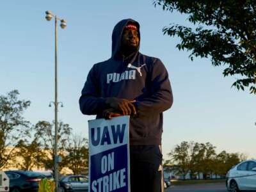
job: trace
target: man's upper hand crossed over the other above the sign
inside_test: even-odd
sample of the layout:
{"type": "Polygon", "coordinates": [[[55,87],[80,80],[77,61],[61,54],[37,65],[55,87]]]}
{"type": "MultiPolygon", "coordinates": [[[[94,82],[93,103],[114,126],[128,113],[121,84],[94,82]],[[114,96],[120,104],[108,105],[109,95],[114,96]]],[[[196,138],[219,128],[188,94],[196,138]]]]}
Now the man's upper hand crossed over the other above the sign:
{"type": "Polygon", "coordinates": [[[106,100],[106,104],[109,104],[113,109],[122,111],[122,115],[137,114],[136,108],[132,102],[136,102],[136,100],[118,99],[116,97],[108,97],[106,100]]]}

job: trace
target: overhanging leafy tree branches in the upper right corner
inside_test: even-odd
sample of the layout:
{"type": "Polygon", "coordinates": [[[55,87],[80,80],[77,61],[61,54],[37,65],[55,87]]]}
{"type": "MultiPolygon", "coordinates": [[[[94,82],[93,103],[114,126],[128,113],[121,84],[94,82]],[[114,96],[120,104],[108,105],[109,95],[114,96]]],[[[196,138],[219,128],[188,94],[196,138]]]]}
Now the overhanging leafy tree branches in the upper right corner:
{"type": "Polygon", "coordinates": [[[189,58],[211,57],[212,65],[225,66],[224,76],[236,76],[238,90],[256,93],[256,1],[156,0],[154,5],[188,15],[195,29],[172,24],[163,33],[181,39],[177,48],[191,51],[189,58]]]}

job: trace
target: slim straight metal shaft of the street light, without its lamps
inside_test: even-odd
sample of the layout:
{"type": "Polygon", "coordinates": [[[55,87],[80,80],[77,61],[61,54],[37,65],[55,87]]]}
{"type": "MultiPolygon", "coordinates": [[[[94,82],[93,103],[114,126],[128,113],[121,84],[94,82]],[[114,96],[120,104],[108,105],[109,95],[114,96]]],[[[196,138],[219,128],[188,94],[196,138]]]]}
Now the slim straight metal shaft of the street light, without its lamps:
{"type": "Polygon", "coordinates": [[[58,82],[57,82],[57,17],[55,16],[55,132],[54,132],[54,181],[55,192],[58,192],[58,82]]]}

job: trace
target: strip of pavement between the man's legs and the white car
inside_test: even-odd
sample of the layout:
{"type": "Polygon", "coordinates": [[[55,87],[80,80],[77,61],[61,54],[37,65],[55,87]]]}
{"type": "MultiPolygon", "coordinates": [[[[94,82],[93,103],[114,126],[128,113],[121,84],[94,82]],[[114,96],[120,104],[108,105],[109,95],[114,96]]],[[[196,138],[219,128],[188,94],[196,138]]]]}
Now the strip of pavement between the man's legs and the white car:
{"type": "Polygon", "coordinates": [[[227,192],[225,182],[214,184],[175,185],[164,189],[164,192],[227,192]]]}

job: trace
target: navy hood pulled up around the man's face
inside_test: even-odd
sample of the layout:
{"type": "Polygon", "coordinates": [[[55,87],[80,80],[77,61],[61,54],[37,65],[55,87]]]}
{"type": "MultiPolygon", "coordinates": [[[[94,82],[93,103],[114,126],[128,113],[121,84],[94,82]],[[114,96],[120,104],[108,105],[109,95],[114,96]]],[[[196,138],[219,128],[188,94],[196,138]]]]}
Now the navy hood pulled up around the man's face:
{"type": "MultiPolygon", "coordinates": [[[[122,33],[124,31],[124,27],[128,24],[128,23],[132,23],[135,24],[136,27],[138,28],[138,33],[139,33],[139,39],[140,39],[140,24],[133,19],[123,19],[120,20],[120,22],[118,22],[115,26],[115,28],[113,29],[113,33],[112,33],[112,54],[111,57],[118,57],[121,56],[121,40],[122,40],[122,33]]],[[[140,42],[138,45],[138,51],[140,48],[140,42]]],[[[137,52],[138,52],[137,51],[137,52]]]]}

